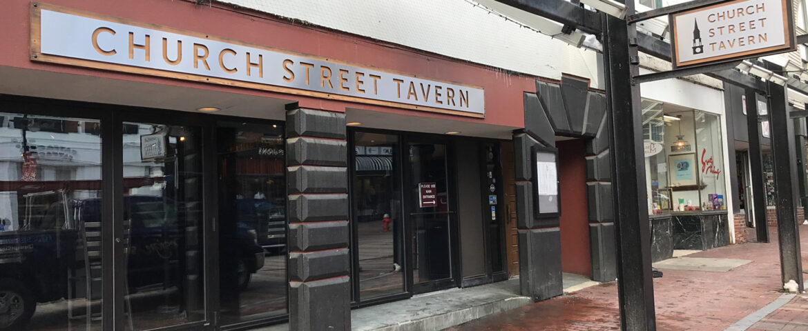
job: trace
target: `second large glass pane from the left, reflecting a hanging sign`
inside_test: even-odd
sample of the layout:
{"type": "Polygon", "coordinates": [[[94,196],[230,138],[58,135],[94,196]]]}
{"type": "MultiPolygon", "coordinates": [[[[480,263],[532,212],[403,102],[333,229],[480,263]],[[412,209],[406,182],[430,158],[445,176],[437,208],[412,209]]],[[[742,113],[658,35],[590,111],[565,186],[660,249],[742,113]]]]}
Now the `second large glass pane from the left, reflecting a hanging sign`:
{"type": "Polygon", "coordinates": [[[124,123],[125,329],[204,319],[199,128],[124,123]]]}

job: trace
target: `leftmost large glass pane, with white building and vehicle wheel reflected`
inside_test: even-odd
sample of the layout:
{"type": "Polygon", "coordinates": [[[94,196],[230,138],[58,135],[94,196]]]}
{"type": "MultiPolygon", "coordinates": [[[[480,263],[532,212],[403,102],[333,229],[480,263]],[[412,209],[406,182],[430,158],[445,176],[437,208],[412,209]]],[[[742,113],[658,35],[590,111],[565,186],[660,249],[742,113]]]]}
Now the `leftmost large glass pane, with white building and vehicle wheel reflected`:
{"type": "Polygon", "coordinates": [[[0,113],[0,329],[101,329],[99,132],[0,113]]]}

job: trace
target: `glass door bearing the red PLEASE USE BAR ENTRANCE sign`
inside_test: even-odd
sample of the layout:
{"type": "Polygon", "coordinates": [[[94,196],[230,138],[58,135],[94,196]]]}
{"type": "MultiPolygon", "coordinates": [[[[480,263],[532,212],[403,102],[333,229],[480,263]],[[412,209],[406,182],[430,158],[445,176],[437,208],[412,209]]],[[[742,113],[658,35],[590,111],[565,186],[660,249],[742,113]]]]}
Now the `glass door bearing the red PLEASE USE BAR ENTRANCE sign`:
{"type": "Polygon", "coordinates": [[[413,291],[434,291],[453,285],[447,145],[410,141],[406,151],[413,291]]]}

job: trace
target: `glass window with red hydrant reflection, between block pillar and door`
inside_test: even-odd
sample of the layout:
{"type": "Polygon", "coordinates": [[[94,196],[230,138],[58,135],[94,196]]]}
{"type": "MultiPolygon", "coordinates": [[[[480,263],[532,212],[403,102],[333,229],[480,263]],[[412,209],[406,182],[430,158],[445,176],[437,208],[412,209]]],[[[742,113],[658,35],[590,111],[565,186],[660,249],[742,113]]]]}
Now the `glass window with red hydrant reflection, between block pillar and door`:
{"type": "Polygon", "coordinates": [[[354,134],[353,220],[360,300],[404,291],[404,217],[398,136],[354,134]]]}

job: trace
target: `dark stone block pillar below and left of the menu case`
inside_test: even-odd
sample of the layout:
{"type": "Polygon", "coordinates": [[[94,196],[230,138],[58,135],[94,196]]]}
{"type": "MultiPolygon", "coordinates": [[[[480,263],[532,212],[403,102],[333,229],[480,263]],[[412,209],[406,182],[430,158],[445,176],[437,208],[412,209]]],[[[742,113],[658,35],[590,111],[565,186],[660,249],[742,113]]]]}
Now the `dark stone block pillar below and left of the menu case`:
{"type": "MultiPolygon", "coordinates": [[[[549,138],[545,138],[549,139],[549,138]]],[[[533,218],[531,149],[541,145],[526,132],[513,136],[516,174],[516,228],[522,295],[535,301],[562,295],[561,230],[558,217],[533,218]]],[[[554,143],[554,140],[553,140],[554,143]]]]}

